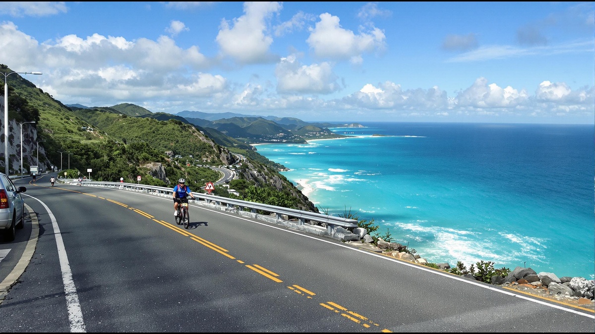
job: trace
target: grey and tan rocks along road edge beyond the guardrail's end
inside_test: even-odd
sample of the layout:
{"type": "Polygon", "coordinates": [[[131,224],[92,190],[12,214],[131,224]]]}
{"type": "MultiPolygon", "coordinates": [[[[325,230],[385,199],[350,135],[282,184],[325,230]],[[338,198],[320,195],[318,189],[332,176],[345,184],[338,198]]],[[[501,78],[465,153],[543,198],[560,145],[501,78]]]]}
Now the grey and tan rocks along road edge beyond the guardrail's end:
{"type": "MultiPolygon", "coordinates": [[[[356,229],[357,230],[357,229],[356,229]]],[[[354,231],[360,232],[361,231],[354,231]]],[[[378,239],[374,244],[374,239],[365,234],[360,241],[348,242],[352,245],[361,244],[365,248],[396,259],[405,260],[413,263],[428,265],[428,261],[418,254],[407,253],[406,246],[398,242],[387,242],[378,239]]],[[[449,272],[450,264],[435,263],[440,270],[449,272]]],[[[462,275],[465,278],[474,279],[471,274],[462,275]]],[[[491,283],[507,288],[527,292],[540,297],[563,301],[568,304],[578,305],[580,307],[595,310],[595,280],[588,280],[583,277],[563,276],[558,278],[554,273],[537,273],[531,268],[516,267],[506,277],[492,276],[491,283]]]]}

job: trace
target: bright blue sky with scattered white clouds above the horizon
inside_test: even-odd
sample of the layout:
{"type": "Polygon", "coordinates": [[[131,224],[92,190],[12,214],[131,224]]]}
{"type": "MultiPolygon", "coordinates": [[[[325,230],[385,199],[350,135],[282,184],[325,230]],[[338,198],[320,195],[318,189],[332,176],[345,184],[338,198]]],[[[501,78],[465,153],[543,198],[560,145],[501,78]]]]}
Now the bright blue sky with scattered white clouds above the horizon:
{"type": "Polygon", "coordinates": [[[24,77],[67,105],[594,124],[594,11],[593,2],[0,2],[0,64],[42,72],[24,77]]]}

